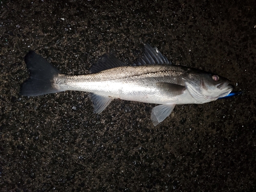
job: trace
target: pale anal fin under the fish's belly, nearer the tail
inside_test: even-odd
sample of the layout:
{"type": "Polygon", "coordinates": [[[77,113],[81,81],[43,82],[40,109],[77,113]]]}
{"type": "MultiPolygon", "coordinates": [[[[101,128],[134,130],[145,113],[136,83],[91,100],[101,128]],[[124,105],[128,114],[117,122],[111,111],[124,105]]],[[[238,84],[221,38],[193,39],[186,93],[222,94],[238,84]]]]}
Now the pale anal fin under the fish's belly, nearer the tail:
{"type": "Polygon", "coordinates": [[[101,113],[113,100],[110,97],[103,97],[101,95],[96,95],[94,93],[90,93],[88,96],[91,98],[93,102],[93,112],[98,114],[101,113]]]}

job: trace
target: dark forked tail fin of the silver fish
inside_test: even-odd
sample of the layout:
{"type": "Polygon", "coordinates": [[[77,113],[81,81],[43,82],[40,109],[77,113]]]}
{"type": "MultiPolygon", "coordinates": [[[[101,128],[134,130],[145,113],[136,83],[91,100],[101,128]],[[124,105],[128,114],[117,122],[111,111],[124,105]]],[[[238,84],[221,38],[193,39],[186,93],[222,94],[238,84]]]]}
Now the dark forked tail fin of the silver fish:
{"type": "Polygon", "coordinates": [[[25,56],[30,78],[22,84],[20,94],[25,96],[45,95],[60,92],[54,87],[54,77],[60,72],[46,59],[30,51],[25,56]]]}

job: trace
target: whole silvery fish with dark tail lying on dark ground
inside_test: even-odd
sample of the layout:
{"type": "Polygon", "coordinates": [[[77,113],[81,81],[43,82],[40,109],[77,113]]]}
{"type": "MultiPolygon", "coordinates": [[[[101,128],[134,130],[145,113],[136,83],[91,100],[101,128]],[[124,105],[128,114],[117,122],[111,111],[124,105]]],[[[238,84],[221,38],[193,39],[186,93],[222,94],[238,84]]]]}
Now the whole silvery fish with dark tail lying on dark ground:
{"type": "Polygon", "coordinates": [[[89,74],[61,73],[45,58],[30,51],[25,56],[30,77],[20,94],[39,96],[63,91],[88,92],[94,113],[100,114],[114,99],[154,103],[151,120],[156,126],[172,113],[175,105],[203,104],[226,97],[233,90],[230,81],[215,73],[173,65],[150,44],[133,63],[105,53],[89,74]]]}

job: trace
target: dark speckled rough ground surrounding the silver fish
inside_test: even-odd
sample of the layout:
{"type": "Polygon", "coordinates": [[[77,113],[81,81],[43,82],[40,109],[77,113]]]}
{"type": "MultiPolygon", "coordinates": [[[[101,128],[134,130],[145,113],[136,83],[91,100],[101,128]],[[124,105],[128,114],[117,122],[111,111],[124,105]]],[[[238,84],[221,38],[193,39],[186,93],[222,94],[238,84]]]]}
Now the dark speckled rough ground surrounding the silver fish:
{"type": "Polygon", "coordinates": [[[1,191],[256,191],[255,0],[49,2],[0,1],[1,191]],[[29,50],[83,74],[145,42],[245,94],[176,106],[156,127],[154,104],[96,115],[87,93],[19,95],[29,50]]]}

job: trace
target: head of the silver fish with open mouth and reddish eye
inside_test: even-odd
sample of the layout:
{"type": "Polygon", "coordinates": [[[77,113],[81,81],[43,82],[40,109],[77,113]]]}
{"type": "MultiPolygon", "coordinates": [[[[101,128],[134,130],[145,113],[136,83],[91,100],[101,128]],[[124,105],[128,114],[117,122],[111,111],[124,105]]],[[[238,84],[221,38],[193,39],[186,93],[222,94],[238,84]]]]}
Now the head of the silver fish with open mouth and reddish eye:
{"type": "Polygon", "coordinates": [[[185,82],[186,88],[198,104],[217,100],[233,90],[230,81],[217,74],[198,70],[189,76],[185,82]]]}

